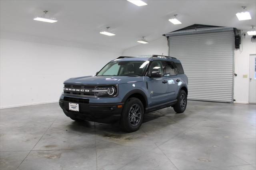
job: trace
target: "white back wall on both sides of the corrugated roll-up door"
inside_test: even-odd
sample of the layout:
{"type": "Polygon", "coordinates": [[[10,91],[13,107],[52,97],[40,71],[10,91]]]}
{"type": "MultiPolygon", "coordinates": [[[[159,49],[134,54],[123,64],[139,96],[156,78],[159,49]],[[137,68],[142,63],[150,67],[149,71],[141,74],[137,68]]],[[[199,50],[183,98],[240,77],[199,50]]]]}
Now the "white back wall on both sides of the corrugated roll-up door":
{"type": "MultiPolygon", "coordinates": [[[[247,36],[242,40],[243,51],[235,50],[235,73],[234,77],[234,103],[248,103],[249,102],[249,55],[256,53],[256,43],[251,42],[251,36],[247,36]],[[247,74],[248,78],[243,78],[247,74]]],[[[162,54],[168,55],[167,39],[165,37],[152,41],[148,44],[138,45],[130,49],[126,49],[123,55],[149,55],[162,54]]]]}

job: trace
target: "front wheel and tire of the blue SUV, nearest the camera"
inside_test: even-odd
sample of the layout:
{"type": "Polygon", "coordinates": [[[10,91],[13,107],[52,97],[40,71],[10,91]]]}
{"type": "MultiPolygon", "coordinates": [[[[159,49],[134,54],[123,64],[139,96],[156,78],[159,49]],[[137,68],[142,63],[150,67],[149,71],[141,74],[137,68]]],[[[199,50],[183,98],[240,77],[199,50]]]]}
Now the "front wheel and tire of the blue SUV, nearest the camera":
{"type": "Polygon", "coordinates": [[[136,97],[129,98],[124,103],[122,110],[120,126],[126,132],[138,130],[142,124],[144,107],[140,99],[136,97]]]}

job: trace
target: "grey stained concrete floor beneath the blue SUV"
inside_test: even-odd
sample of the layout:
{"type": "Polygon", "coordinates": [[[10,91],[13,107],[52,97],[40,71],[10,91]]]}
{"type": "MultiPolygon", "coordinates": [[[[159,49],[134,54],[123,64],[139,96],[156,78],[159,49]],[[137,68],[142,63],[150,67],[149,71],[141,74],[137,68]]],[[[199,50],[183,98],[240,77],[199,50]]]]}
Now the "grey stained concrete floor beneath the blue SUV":
{"type": "Polygon", "coordinates": [[[188,101],[140,130],[76,123],[58,103],[0,110],[0,169],[255,170],[256,105],[188,101]]]}

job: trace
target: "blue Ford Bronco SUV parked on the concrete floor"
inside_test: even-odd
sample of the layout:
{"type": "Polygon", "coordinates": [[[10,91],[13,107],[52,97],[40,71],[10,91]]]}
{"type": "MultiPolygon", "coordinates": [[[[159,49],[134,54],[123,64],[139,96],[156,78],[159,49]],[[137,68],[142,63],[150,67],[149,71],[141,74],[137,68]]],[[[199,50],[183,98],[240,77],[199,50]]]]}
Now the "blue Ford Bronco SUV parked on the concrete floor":
{"type": "Polygon", "coordinates": [[[74,121],[120,122],[127,132],[140,128],[143,115],[165,107],[183,113],[188,77],[174,57],[118,57],[95,76],[64,82],[60,107],[74,121]]]}

